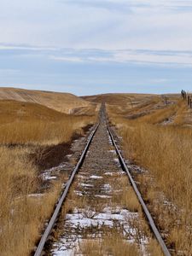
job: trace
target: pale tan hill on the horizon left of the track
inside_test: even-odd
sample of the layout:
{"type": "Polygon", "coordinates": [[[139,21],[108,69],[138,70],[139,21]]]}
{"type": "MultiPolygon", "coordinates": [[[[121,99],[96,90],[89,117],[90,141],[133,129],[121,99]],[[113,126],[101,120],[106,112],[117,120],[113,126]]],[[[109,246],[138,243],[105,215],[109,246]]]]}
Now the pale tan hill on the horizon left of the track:
{"type": "Polygon", "coordinates": [[[16,88],[0,88],[0,100],[38,103],[62,113],[77,112],[78,108],[91,108],[93,105],[69,93],[16,88]]]}

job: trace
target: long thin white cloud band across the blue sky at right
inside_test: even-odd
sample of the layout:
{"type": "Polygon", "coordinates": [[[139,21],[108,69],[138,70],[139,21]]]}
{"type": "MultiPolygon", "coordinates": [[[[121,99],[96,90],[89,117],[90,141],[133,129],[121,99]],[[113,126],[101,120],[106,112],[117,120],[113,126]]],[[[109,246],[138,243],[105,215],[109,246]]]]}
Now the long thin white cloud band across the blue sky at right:
{"type": "Polygon", "coordinates": [[[192,66],[192,51],[153,51],[153,50],[73,50],[61,49],[56,55],[49,55],[49,60],[64,62],[117,62],[155,65],[192,66]]]}

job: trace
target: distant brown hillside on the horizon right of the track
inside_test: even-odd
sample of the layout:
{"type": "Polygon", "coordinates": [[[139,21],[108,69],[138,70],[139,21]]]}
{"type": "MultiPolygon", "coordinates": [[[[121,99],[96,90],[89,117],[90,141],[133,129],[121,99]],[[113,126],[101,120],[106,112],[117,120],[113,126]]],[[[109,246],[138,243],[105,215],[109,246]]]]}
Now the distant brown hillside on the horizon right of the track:
{"type": "MultiPolygon", "coordinates": [[[[114,93],[84,96],[83,98],[90,102],[106,102],[107,108],[110,109],[111,113],[115,113],[117,118],[138,119],[151,113],[159,115],[159,111],[164,112],[166,108],[172,108],[176,105],[179,96],[114,93]]],[[[171,115],[172,111],[169,111],[169,113],[171,115]]],[[[160,116],[162,116],[161,113],[160,116]]]]}

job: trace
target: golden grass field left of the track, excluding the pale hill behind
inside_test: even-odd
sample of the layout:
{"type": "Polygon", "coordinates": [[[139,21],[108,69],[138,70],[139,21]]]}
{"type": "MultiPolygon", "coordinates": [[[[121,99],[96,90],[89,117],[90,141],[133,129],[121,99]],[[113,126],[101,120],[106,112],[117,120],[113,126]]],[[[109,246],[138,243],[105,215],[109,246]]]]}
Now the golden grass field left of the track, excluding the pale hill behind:
{"type": "MultiPolygon", "coordinates": [[[[49,158],[56,158],[51,154],[54,148],[68,150],[74,134],[76,138],[84,135],[83,128],[96,121],[96,107],[89,108],[89,102],[87,106],[86,114],[68,115],[68,108],[61,113],[34,102],[0,101],[1,255],[29,255],[32,251],[44,221],[53,211],[62,181],[51,182],[49,189],[38,195],[39,173],[45,166],[39,170],[32,155],[39,160],[45,152],[49,158]]],[[[75,107],[82,111],[81,104],[75,107]]],[[[45,160],[49,160],[47,156],[45,160]]]]}

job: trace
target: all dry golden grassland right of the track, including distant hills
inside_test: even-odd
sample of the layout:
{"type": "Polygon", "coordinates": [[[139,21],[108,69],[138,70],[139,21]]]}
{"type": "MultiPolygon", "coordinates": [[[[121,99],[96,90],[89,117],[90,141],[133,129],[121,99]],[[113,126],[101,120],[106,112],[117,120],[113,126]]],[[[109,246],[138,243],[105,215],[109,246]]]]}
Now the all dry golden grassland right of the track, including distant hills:
{"type": "MultiPolygon", "coordinates": [[[[99,96],[98,102],[105,98],[99,96]]],[[[176,253],[189,255],[192,253],[191,110],[175,95],[107,98],[109,120],[122,137],[126,158],[148,170],[136,176],[148,207],[164,230],[169,246],[176,253]],[[125,103],[128,98],[131,102],[125,103]]],[[[97,102],[96,96],[89,100],[97,102]]]]}

